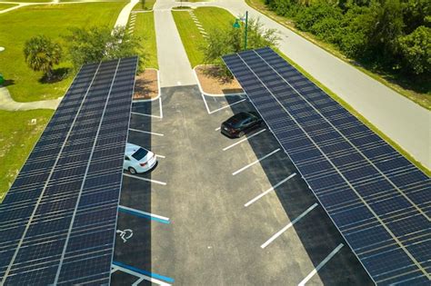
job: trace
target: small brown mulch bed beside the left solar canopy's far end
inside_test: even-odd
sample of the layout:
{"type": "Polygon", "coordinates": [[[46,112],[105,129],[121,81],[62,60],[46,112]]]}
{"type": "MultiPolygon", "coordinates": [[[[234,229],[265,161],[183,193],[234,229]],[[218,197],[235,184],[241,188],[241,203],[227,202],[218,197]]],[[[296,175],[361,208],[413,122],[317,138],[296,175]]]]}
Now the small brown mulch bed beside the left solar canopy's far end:
{"type": "Polygon", "coordinates": [[[152,99],[158,95],[157,71],[146,69],[135,77],[133,100],[152,99]]]}

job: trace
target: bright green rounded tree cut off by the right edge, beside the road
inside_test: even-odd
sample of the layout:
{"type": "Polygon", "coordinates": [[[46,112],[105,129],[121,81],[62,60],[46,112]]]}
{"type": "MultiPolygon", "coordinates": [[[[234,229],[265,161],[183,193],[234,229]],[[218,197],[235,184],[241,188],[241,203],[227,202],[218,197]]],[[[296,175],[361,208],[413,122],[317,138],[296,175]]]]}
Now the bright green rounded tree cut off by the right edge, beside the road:
{"type": "Polygon", "coordinates": [[[431,28],[418,27],[412,34],[400,37],[400,53],[414,74],[431,73],[431,28]]]}

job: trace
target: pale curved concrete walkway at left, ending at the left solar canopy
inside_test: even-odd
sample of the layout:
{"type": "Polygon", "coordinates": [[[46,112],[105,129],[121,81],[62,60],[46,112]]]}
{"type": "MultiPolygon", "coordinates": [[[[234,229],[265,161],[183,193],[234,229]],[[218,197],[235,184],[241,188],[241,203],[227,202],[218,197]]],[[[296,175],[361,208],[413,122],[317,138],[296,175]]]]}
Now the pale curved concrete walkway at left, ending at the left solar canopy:
{"type": "Polygon", "coordinates": [[[7,111],[24,111],[33,109],[56,109],[63,97],[30,103],[15,102],[7,88],[0,86],[0,109],[7,111]]]}

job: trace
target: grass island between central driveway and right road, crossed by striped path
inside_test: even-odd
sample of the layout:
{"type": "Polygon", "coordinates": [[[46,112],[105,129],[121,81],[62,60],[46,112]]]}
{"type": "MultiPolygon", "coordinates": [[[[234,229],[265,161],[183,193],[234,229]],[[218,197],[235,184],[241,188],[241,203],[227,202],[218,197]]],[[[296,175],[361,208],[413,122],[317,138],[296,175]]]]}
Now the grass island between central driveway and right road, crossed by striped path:
{"type": "MultiPolygon", "coordinates": [[[[194,13],[206,33],[214,29],[227,29],[235,23],[235,17],[222,8],[199,7],[194,9],[194,13]]],[[[206,41],[199,33],[192,17],[188,12],[183,11],[172,11],[172,15],[190,64],[192,67],[204,64],[204,53],[201,47],[205,46],[206,41]]]]}

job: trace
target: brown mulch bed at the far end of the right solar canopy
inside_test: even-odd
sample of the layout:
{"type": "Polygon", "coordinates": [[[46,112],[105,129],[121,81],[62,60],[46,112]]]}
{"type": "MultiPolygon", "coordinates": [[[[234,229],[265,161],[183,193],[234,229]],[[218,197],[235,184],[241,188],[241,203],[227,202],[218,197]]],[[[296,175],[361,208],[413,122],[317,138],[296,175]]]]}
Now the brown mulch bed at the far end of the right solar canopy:
{"type": "Polygon", "coordinates": [[[239,94],[244,93],[236,79],[216,77],[218,67],[199,65],[195,68],[197,78],[205,94],[239,94]]]}

